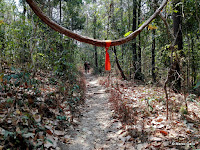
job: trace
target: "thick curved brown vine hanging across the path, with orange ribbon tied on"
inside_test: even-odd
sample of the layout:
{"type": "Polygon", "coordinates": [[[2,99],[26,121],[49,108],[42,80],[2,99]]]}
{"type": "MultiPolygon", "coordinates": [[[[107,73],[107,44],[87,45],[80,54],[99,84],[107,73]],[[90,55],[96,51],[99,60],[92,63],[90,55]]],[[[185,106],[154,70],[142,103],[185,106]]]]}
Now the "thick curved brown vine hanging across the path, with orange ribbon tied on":
{"type": "MultiPolygon", "coordinates": [[[[100,46],[100,47],[105,47],[106,46],[106,40],[98,40],[98,39],[93,39],[93,38],[89,38],[87,36],[82,36],[79,35],[77,33],[74,33],[62,26],[60,26],[59,24],[57,24],[56,22],[54,22],[53,20],[51,20],[50,18],[48,18],[43,12],[42,10],[38,7],[37,3],[34,0],[26,0],[26,2],[29,4],[29,6],[31,7],[31,9],[34,11],[34,13],[44,22],[46,23],[49,27],[51,27],[53,30],[64,34],[70,38],[73,38],[77,41],[80,42],[84,42],[84,43],[88,43],[88,44],[92,44],[95,46],[100,46]]],[[[168,0],[163,0],[162,4],[160,5],[160,7],[154,12],[154,14],[148,19],[146,20],[137,30],[135,30],[133,33],[131,33],[129,36],[125,37],[125,38],[121,38],[118,40],[113,40],[111,42],[110,46],[117,46],[117,45],[121,45],[124,44],[134,38],[137,37],[137,35],[146,27],[148,26],[148,24],[160,13],[160,11],[165,7],[165,5],[167,4],[168,0]]]]}

